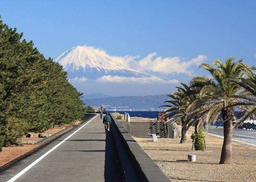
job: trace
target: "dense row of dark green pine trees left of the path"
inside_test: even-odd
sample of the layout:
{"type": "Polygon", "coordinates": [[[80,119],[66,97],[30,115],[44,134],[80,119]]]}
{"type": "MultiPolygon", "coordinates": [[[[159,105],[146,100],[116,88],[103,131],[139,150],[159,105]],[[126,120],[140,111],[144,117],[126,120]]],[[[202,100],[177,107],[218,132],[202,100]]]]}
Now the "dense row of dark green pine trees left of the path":
{"type": "MultiPolygon", "coordinates": [[[[0,17],[1,18],[1,17],[0,17]]],[[[28,131],[44,131],[83,116],[81,93],[62,66],[22,40],[0,19],[0,151],[22,145],[28,131]]]]}

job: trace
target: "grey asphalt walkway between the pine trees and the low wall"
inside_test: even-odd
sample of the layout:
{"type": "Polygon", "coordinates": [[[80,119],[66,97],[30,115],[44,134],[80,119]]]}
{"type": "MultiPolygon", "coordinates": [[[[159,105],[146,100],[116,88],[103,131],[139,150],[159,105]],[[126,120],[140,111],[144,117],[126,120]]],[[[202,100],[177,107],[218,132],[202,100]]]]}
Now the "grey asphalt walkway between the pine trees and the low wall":
{"type": "Polygon", "coordinates": [[[35,160],[72,133],[74,134],[70,138],[29,168],[15,182],[123,181],[112,133],[105,133],[99,115],[76,131],[79,128],[80,126],[74,128],[0,173],[0,182],[12,179],[30,164],[33,165],[35,160]]]}

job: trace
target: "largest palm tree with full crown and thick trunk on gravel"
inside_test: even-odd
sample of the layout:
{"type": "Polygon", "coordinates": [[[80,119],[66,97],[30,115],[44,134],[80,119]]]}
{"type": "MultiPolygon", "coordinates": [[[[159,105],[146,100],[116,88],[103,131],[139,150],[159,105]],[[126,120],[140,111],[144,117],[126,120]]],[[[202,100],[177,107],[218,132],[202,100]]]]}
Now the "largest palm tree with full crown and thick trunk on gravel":
{"type": "Polygon", "coordinates": [[[198,108],[207,112],[207,122],[215,122],[219,115],[222,114],[222,122],[224,122],[224,141],[221,153],[220,164],[232,163],[232,119],[235,115],[234,107],[239,105],[237,98],[240,86],[226,81],[232,79],[239,81],[243,77],[241,62],[233,62],[235,59],[230,57],[224,63],[220,60],[214,60],[213,66],[203,63],[199,68],[204,68],[210,72],[212,78],[196,76],[190,83],[192,87],[201,88],[200,97],[197,98],[188,108],[188,111],[197,112],[198,108]],[[216,67],[214,67],[216,66],[216,67]]]}

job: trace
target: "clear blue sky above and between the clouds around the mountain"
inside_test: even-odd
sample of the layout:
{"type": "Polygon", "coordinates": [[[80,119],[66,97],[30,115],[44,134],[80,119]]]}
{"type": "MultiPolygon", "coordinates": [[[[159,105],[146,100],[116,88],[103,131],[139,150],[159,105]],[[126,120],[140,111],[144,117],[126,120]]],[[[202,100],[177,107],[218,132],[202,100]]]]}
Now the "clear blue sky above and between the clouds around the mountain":
{"type": "MultiPolygon", "coordinates": [[[[190,61],[204,55],[209,63],[234,56],[256,65],[256,1],[1,1],[0,15],[24,32],[26,40],[33,40],[45,57],[56,58],[86,44],[112,56],[144,58],[156,52],[156,57],[190,61]]],[[[208,75],[196,64],[188,70],[208,75]]],[[[192,77],[177,72],[156,75],[183,82],[192,77]]],[[[118,94],[162,94],[174,91],[174,86],[118,94]]]]}

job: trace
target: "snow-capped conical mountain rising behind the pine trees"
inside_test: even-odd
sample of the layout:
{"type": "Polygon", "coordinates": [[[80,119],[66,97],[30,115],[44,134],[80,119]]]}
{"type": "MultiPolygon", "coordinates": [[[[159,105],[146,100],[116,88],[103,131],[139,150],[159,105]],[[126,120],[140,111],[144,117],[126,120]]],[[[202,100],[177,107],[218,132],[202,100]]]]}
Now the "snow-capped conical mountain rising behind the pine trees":
{"type": "Polygon", "coordinates": [[[141,77],[150,76],[114,61],[103,52],[86,46],[76,46],[58,56],[54,61],[63,66],[69,78],[86,77],[96,79],[104,75],[141,77]]]}

